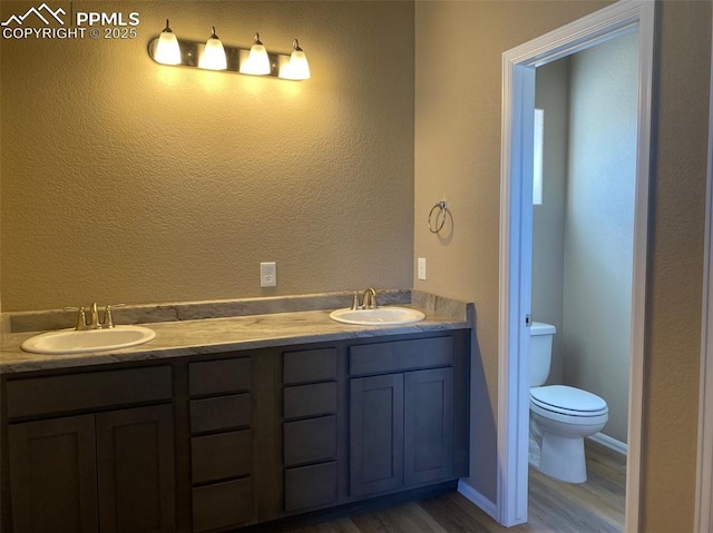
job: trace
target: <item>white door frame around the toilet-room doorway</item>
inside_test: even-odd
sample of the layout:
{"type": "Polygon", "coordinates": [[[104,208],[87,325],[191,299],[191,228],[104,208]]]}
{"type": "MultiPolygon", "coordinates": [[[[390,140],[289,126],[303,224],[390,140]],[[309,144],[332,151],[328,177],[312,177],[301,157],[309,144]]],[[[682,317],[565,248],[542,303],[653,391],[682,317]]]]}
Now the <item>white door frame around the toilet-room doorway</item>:
{"type": "Polygon", "coordinates": [[[529,329],[525,319],[530,313],[535,69],[638,29],[638,135],[624,527],[627,533],[638,532],[654,16],[654,1],[621,1],[502,55],[497,506],[498,521],[507,526],[527,521],[529,329]]]}

